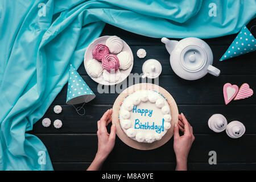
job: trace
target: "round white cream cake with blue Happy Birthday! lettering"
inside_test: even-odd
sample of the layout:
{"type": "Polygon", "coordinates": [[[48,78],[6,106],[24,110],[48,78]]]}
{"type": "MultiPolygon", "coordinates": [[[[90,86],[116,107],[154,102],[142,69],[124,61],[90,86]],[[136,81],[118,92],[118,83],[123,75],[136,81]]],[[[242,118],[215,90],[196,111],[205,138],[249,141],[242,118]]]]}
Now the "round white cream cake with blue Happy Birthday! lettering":
{"type": "Polygon", "coordinates": [[[126,96],[118,117],[123,132],[137,142],[160,140],[171,127],[170,105],[155,90],[138,90],[126,96]]]}

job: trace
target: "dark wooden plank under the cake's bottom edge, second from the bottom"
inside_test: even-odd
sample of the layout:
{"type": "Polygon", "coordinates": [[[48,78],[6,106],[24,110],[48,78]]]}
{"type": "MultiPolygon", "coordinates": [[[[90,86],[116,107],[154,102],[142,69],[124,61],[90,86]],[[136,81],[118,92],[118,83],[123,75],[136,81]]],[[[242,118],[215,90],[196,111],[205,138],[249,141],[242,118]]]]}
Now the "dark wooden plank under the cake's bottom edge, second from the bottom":
{"type": "MultiPolygon", "coordinates": [[[[97,151],[94,134],[38,134],[46,145],[52,162],[92,162],[97,151]]],[[[188,162],[207,163],[209,151],[217,152],[217,163],[255,163],[256,135],[245,134],[238,139],[221,134],[196,134],[188,162]]],[[[175,162],[173,139],[155,150],[140,151],[116,139],[115,147],[106,163],[110,162],[175,162]]]]}

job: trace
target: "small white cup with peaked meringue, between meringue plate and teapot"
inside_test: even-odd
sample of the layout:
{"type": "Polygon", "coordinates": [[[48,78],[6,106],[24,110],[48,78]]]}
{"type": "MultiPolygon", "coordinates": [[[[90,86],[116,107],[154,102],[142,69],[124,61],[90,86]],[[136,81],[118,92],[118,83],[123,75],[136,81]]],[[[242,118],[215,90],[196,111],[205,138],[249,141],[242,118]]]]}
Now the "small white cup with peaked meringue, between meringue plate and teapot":
{"type": "Polygon", "coordinates": [[[148,59],[142,65],[142,72],[148,78],[156,78],[162,72],[162,65],[158,60],[148,59]]]}

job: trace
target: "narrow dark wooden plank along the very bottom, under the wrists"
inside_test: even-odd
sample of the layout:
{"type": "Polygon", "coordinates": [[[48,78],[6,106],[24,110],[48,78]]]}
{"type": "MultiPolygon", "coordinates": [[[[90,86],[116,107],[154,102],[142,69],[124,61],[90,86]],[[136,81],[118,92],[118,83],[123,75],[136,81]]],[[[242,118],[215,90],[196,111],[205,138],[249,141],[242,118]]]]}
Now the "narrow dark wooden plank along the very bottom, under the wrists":
{"type": "MultiPolygon", "coordinates": [[[[53,163],[58,171],[85,171],[90,163],[53,163]]],[[[174,171],[176,163],[104,163],[102,171],[174,171]]],[[[243,171],[255,170],[256,163],[188,163],[188,171],[243,171]]]]}

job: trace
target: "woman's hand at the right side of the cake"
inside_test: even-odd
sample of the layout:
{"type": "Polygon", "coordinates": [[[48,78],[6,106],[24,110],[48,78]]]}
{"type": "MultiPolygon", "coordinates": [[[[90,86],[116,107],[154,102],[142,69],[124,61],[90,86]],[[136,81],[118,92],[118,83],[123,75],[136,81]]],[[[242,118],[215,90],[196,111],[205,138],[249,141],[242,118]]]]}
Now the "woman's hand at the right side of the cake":
{"type": "Polygon", "coordinates": [[[189,150],[192,146],[195,137],[193,135],[193,128],[189,125],[184,114],[179,115],[179,122],[174,126],[174,151],[176,154],[176,170],[187,170],[187,158],[189,150]],[[180,136],[179,130],[184,133],[180,136]]]}

